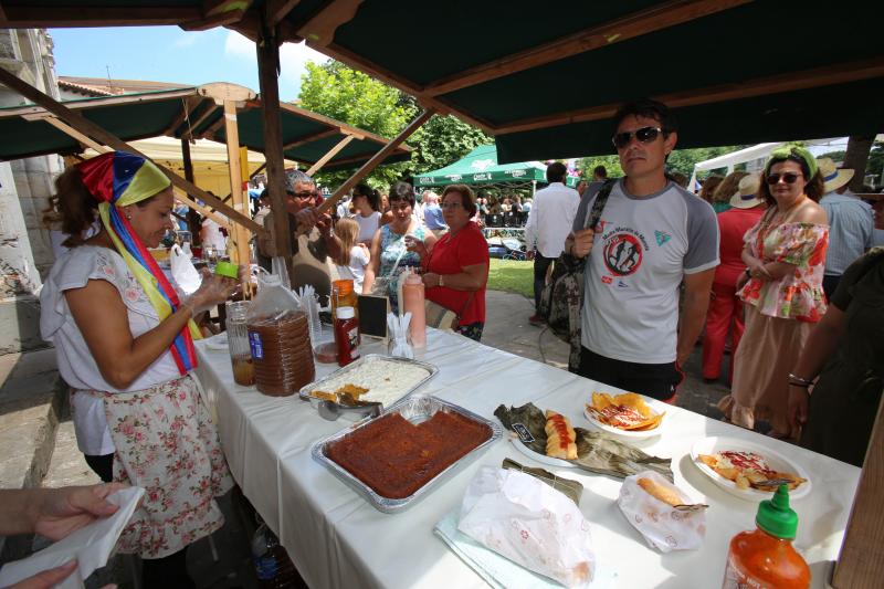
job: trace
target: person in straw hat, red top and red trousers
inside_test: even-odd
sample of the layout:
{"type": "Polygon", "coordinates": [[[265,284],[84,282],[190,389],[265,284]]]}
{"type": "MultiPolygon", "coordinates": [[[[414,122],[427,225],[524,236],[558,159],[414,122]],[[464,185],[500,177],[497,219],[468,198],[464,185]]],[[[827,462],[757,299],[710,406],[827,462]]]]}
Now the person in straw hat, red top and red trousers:
{"type": "Polygon", "coordinates": [[[706,337],[703,338],[703,378],[707,381],[718,379],[725,340],[732,323],[734,335],[730,340],[730,371],[727,380],[730,382],[734,379],[734,357],[745,328],[743,302],[737,296],[737,280],[746,271],[746,264],[740,259],[743,236],[758,223],[765,212],[765,201],[758,198],[760,178],[757,173],[746,176],[739,181],[738,192],[730,199],[733,208],[718,213],[722,263],[715,269],[713,298],[706,315],[706,337]]]}

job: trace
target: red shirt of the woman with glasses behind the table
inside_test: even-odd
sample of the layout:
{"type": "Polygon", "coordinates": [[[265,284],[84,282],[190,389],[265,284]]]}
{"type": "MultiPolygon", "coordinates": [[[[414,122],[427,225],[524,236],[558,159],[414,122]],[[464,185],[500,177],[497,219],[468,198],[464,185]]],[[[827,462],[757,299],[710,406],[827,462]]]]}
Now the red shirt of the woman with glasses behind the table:
{"type": "MultiPolygon", "coordinates": [[[[478,225],[470,221],[454,238],[451,233],[445,233],[435,242],[429,255],[427,271],[443,275],[460,274],[464,266],[476,264],[488,265],[488,242],[485,241],[478,225]]],[[[487,283],[487,280],[485,282],[487,283]]],[[[427,288],[427,298],[457,315],[462,314],[461,325],[485,323],[485,284],[474,293],[435,286],[427,288]],[[471,295],[473,299],[466,306],[471,295]]]]}

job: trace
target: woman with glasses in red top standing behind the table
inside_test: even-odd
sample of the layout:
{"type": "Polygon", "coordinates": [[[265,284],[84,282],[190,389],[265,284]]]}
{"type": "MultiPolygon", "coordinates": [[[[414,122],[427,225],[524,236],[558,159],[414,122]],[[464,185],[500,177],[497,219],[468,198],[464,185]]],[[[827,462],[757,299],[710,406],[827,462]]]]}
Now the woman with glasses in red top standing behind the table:
{"type": "Polygon", "coordinates": [[[476,213],[473,191],[451,185],[442,192],[442,217],[449,232],[432,252],[414,243],[424,267],[427,298],[461,318],[457,332],[478,341],[485,326],[485,285],[488,282],[488,244],[470,219],[476,213]]]}

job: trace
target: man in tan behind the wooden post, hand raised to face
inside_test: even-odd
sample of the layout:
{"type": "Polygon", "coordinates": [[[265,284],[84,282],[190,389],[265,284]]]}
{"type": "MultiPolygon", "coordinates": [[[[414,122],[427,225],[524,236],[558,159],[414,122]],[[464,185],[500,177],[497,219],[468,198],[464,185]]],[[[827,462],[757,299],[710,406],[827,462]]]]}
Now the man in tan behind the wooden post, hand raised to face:
{"type": "MultiPolygon", "coordinates": [[[[340,253],[340,240],[332,234],[332,217],[316,210],[318,192],[313,178],[301,170],[285,175],[285,209],[288,211],[288,243],[292,248],[292,288],[312,285],[319,304],[326,305],[332,293],[328,257],[340,253]]],[[[273,231],[273,212],[264,217],[264,227],[273,231]]],[[[272,234],[259,240],[259,252],[276,255],[272,234]]]]}

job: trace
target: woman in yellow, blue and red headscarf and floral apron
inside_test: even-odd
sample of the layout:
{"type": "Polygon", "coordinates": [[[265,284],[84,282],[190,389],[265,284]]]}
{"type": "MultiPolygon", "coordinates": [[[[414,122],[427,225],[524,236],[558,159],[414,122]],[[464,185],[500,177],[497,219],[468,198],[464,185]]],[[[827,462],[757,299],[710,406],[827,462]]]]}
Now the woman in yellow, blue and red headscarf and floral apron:
{"type": "Polygon", "coordinates": [[[146,587],[192,587],[185,548],[223,525],[214,496],[232,487],[218,433],[190,371],[192,318],[236,284],[203,277],[183,297],[148,248],[171,229],[169,179],[123,151],[78,164],[55,182],[72,235],[40,295],[40,328],[71,387],[77,444],[104,480],[147,490],[120,536],[144,558],[146,587]],[[97,215],[101,231],[82,239],[97,215]]]}

